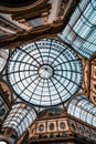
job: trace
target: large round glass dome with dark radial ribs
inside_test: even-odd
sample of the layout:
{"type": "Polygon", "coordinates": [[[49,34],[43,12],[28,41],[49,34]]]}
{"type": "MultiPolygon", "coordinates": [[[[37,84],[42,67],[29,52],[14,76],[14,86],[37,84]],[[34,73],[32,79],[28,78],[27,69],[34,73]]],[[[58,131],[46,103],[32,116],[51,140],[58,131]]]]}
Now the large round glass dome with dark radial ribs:
{"type": "Polygon", "coordinates": [[[66,45],[45,39],[17,48],[7,73],[18,96],[38,106],[50,106],[65,102],[81,88],[82,63],[66,45]]]}

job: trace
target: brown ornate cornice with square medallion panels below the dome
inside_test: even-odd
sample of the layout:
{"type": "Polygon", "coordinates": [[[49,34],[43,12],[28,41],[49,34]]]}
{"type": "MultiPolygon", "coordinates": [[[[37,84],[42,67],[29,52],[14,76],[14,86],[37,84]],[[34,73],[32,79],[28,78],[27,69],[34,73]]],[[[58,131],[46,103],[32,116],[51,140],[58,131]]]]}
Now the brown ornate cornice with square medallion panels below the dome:
{"type": "MultiPolygon", "coordinates": [[[[53,116],[50,120],[35,120],[33,125],[29,127],[29,143],[36,142],[50,142],[51,140],[57,143],[63,141],[70,142],[70,138],[77,138],[85,143],[85,140],[96,141],[96,128],[90,126],[89,124],[84,123],[83,121],[78,121],[78,119],[67,114],[66,117],[62,117],[61,115],[57,119],[53,116]],[[64,127],[61,127],[61,123],[64,124],[64,127]],[[39,128],[40,126],[43,126],[39,128]],[[90,132],[90,135],[89,133],[90,132]]],[[[71,141],[72,142],[72,141],[71,141]]],[[[81,142],[81,143],[82,143],[81,142]]],[[[79,144],[81,144],[79,143],[79,144]]],[[[86,142],[88,143],[88,142],[86,142]]],[[[78,144],[78,143],[77,143],[78,144]]]]}

